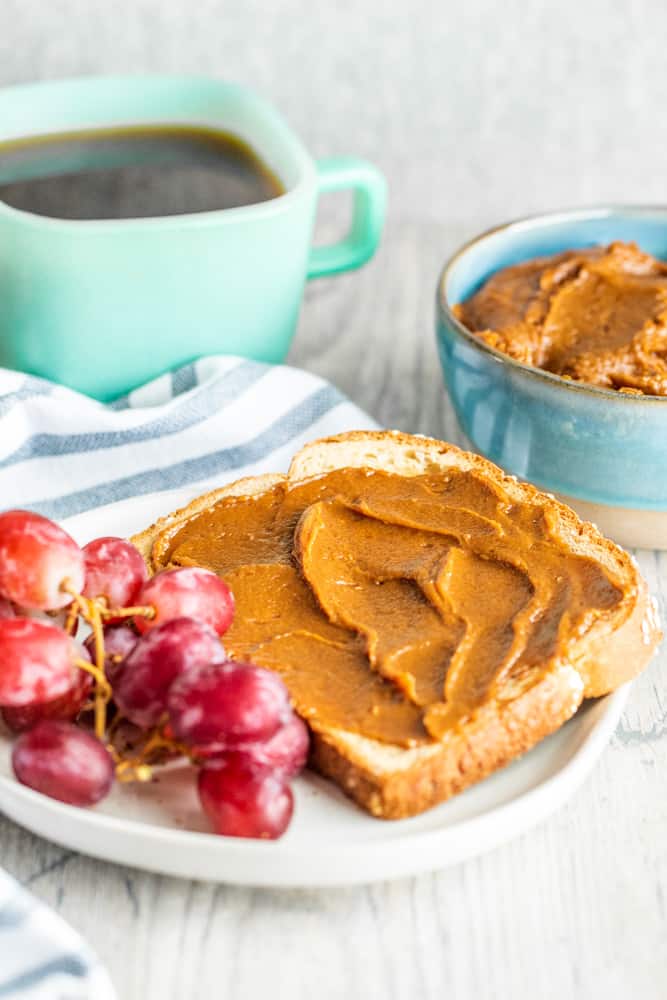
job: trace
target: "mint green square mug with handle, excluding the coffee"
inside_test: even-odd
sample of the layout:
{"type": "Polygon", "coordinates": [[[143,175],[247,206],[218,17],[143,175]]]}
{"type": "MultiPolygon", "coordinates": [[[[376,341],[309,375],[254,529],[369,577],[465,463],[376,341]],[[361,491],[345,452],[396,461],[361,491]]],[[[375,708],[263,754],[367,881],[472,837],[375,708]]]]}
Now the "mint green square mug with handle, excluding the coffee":
{"type": "Polygon", "coordinates": [[[194,125],[245,140],[285,193],[160,218],[67,220],[0,201],[0,365],[101,400],[206,354],[281,361],[307,278],[374,253],[385,182],[357,159],[314,161],[242,87],[195,77],[82,78],[0,91],[0,142],[126,125],[194,125]],[[354,192],[347,236],[311,246],[321,193],[354,192]]]}

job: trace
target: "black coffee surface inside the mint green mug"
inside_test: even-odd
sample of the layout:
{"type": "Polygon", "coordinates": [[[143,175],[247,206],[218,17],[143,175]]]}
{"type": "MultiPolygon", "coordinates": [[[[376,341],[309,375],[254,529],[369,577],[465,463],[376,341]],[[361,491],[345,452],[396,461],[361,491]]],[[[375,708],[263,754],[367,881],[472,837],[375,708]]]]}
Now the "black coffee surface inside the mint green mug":
{"type": "Polygon", "coordinates": [[[0,200],[60,219],[136,219],[268,201],[280,180],[238,136],[190,125],[0,143],[0,200]]]}

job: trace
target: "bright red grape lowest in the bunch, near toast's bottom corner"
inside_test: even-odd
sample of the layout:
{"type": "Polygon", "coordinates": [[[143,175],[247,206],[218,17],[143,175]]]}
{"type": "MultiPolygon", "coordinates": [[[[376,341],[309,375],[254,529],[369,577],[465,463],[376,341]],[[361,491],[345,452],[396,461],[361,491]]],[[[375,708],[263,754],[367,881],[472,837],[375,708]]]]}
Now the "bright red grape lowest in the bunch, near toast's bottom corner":
{"type": "Polygon", "coordinates": [[[204,765],[199,799],[216,833],[226,837],[280,837],[292,818],[294,798],[284,775],[229,753],[204,765]]]}

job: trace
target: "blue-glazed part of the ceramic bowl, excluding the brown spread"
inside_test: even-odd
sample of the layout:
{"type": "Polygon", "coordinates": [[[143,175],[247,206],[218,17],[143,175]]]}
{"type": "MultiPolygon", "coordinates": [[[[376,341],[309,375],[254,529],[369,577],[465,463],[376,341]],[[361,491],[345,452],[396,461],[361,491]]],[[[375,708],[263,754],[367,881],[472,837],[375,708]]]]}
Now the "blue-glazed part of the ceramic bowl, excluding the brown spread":
{"type": "Polygon", "coordinates": [[[463,432],[492,461],[568,500],[667,512],[667,398],[597,389],[519,364],[451,310],[500,268],[612,240],[635,240],[667,260],[667,208],[559,212],[472,240],[438,283],[440,361],[463,432]]]}

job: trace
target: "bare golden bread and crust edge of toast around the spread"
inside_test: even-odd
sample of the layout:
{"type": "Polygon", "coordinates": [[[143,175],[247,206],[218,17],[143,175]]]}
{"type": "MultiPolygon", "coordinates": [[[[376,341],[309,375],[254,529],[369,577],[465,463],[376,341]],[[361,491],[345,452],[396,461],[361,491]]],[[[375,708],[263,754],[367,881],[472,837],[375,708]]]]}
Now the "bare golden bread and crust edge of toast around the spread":
{"type": "Polygon", "coordinates": [[[446,474],[456,467],[487,477],[509,499],[549,512],[573,554],[594,559],[623,598],[598,617],[572,647],[567,662],[539,670],[536,683],[511,685],[503,698],[486,700],[442,740],[403,748],[345,729],[313,732],[311,765],[333,779],[375,816],[422,812],[491,774],[554,732],[585,697],[612,691],[639,673],[661,638],[654,602],[632,557],[579,520],[569,507],[497,466],[454,445],[390,431],[359,431],[314,441],[293,459],[287,476],[242,479],[161,518],[132,541],[152,572],[164,568],[168,539],[191,517],[230,497],[253,497],[277,483],[290,484],[336,469],[364,468],[401,476],[446,474]]]}

